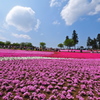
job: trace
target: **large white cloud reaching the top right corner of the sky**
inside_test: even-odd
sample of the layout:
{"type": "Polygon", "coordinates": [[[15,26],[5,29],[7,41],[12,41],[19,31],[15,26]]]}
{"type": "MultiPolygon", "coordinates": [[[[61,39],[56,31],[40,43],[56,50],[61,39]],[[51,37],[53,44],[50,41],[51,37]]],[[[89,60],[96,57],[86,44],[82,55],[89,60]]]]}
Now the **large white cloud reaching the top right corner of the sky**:
{"type": "Polygon", "coordinates": [[[95,15],[100,12],[100,0],[69,0],[61,11],[61,17],[67,25],[72,25],[83,15],[95,15]]]}

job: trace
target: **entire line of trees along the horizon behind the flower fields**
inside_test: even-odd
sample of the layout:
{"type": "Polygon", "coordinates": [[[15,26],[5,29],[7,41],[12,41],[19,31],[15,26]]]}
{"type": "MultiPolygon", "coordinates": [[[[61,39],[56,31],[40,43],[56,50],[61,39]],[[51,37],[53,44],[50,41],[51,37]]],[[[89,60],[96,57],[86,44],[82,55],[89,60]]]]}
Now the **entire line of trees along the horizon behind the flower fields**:
{"type": "MultiPolygon", "coordinates": [[[[63,43],[59,43],[57,46],[60,47],[60,49],[64,48],[66,46],[68,49],[71,47],[75,47],[76,44],[78,44],[78,34],[76,33],[76,30],[73,30],[72,37],[69,38],[69,36],[66,36],[63,43]]],[[[40,47],[33,46],[30,42],[21,42],[21,43],[11,43],[10,41],[0,41],[0,48],[8,48],[8,49],[24,49],[24,50],[47,50],[46,43],[40,42],[40,47]]],[[[90,37],[87,38],[87,49],[100,49],[100,33],[97,34],[96,38],[91,39],[90,37]]],[[[84,48],[83,46],[80,46],[80,48],[84,48]]],[[[49,50],[55,50],[53,48],[49,48],[49,50]]]]}

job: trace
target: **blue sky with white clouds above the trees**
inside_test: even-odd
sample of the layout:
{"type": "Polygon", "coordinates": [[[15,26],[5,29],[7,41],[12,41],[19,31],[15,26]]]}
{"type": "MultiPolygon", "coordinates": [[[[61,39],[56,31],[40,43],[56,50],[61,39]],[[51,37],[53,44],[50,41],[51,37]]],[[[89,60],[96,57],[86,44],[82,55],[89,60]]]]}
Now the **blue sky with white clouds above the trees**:
{"type": "Polygon", "coordinates": [[[100,0],[0,0],[0,41],[56,48],[76,30],[86,47],[100,33],[100,0]]]}

